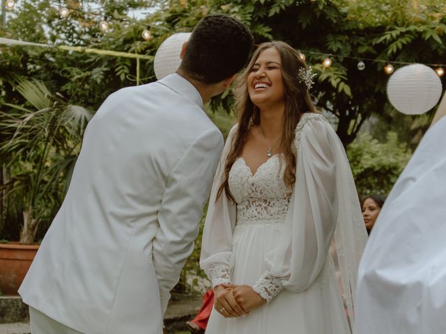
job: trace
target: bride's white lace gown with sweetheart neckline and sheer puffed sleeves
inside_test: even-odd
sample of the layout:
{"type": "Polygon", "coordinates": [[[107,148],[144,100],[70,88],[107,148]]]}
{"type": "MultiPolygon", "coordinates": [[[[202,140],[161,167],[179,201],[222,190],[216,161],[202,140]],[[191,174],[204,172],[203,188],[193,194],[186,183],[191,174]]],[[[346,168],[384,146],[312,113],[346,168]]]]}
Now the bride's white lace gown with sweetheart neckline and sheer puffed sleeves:
{"type": "Polygon", "coordinates": [[[239,158],[229,175],[236,204],[224,193],[215,202],[235,132],[236,127],[214,181],[201,267],[214,286],[251,285],[269,302],[247,317],[234,319],[213,310],[206,333],[349,333],[328,249],[335,228],[340,228],[337,241],[344,245],[351,241],[347,243],[351,251],[343,253],[344,246],[338,253],[339,261],[352,263],[352,267],[345,265],[350,269],[344,273],[348,282],[348,274],[355,277],[367,232],[339,138],[323,116],[305,114],[296,130],[298,165],[292,194],[284,184],[279,155],[268,159],[254,175],[239,158]],[[345,253],[355,262],[346,262],[345,253]]]}

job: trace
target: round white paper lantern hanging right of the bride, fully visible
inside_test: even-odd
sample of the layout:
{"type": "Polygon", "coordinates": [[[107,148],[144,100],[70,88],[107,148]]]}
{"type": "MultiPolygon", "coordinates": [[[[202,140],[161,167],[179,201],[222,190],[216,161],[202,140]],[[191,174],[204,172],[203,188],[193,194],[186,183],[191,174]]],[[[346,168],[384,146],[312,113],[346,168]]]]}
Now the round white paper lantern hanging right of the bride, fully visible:
{"type": "Polygon", "coordinates": [[[422,64],[399,68],[387,83],[390,103],[407,115],[431,110],[440,100],[442,90],[441,80],[436,72],[422,64]]]}

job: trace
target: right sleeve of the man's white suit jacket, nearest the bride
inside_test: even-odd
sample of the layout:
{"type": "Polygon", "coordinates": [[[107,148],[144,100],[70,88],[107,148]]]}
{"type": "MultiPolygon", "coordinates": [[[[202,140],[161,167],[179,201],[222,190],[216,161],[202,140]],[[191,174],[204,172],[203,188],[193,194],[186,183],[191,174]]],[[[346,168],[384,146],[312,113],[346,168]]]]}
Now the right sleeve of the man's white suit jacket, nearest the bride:
{"type": "Polygon", "coordinates": [[[216,128],[209,129],[190,145],[169,177],[153,240],[162,315],[170,299],[169,292],[178,283],[181,269],[194,249],[203,205],[222,149],[222,134],[216,128]]]}

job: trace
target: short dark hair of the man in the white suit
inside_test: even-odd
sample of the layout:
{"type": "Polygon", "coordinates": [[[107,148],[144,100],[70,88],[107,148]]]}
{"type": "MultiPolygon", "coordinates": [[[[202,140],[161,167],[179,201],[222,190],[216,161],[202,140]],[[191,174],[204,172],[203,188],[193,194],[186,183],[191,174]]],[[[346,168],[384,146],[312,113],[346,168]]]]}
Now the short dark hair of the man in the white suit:
{"type": "Polygon", "coordinates": [[[180,69],[191,79],[215,84],[247,63],[254,38],[245,24],[226,15],[208,15],[195,26],[180,69]]]}

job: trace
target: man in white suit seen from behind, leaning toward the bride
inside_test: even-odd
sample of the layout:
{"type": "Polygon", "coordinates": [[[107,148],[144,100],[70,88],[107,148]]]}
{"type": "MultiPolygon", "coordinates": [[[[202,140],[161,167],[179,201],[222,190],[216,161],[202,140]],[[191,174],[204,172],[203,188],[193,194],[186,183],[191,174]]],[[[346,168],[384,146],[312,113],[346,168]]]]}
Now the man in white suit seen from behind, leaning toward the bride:
{"type": "Polygon", "coordinates": [[[252,42],[238,20],[204,17],[176,74],[100,106],[19,290],[31,333],[162,333],[223,147],[203,103],[229,88],[252,42]]]}

